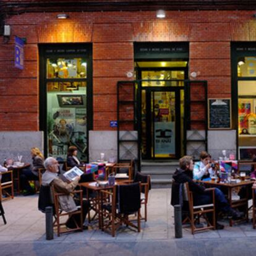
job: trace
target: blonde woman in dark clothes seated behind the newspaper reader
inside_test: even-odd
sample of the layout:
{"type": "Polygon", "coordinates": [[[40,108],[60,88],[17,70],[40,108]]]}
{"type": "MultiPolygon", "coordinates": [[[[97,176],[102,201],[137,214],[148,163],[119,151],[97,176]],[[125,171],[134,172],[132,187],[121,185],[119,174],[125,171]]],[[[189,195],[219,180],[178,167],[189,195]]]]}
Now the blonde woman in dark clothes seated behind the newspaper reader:
{"type": "Polygon", "coordinates": [[[39,148],[31,148],[30,154],[32,156],[33,165],[31,168],[23,169],[20,174],[20,184],[26,192],[23,195],[33,195],[34,191],[28,181],[38,181],[38,169],[44,168],[44,157],[39,148]]]}

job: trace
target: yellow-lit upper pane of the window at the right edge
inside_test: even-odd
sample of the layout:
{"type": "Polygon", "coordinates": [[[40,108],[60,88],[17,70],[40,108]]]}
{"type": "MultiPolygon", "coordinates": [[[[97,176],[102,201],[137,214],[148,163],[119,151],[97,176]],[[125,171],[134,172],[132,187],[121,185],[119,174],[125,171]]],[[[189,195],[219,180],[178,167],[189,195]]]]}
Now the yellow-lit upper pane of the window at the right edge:
{"type": "Polygon", "coordinates": [[[238,58],[237,77],[256,77],[256,57],[238,58]]]}

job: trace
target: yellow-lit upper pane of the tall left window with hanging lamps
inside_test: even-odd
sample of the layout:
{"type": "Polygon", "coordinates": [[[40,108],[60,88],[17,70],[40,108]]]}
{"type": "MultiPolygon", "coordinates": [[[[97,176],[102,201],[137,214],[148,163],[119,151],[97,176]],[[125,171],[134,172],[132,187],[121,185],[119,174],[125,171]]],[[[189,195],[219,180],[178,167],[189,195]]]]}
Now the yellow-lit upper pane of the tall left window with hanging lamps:
{"type": "Polygon", "coordinates": [[[87,78],[87,62],[82,58],[47,59],[47,79],[87,78]]]}

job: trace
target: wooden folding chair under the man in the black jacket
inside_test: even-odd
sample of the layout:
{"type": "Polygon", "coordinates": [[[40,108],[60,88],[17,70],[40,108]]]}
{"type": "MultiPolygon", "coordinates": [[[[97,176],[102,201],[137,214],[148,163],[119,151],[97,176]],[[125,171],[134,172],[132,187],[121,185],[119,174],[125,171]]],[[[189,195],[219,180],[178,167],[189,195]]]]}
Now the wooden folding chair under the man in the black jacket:
{"type": "MultiPolygon", "coordinates": [[[[192,234],[194,234],[197,231],[203,231],[203,230],[206,230],[206,229],[216,229],[216,221],[215,221],[215,189],[214,188],[210,188],[210,189],[206,189],[206,190],[212,192],[213,202],[209,203],[207,205],[194,205],[193,194],[189,190],[189,184],[188,183],[184,184],[184,195],[187,195],[187,200],[189,202],[189,221],[190,221],[190,225],[191,225],[192,234]],[[206,215],[207,213],[211,213],[212,214],[212,221],[208,220],[208,217],[206,215]],[[207,226],[206,227],[203,227],[203,228],[196,228],[195,227],[195,221],[196,221],[195,216],[196,215],[198,215],[199,218],[201,216],[203,218],[205,218],[205,220],[207,221],[207,226]]],[[[183,199],[186,200],[186,198],[183,198],[183,199]]]]}

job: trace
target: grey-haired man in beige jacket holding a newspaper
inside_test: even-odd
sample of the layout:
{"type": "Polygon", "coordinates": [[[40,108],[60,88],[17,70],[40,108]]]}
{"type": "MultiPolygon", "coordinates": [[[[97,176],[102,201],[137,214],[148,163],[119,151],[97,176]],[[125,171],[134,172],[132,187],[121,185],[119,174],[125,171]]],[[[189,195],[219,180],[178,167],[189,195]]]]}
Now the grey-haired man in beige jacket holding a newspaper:
{"type": "MultiPolygon", "coordinates": [[[[54,190],[57,193],[65,193],[67,196],[59,197],[59,203],[61,205],[61,209],[66,212],[72,212],[77,210],[77,206],[75,204],[74,198],[71,193],[74,191],[75,187],[77,187],[80,177],[75,177],[74,181],[67,183],[62,181],[59,178],[59,163],[53,157],[48,157],[45,160],[45,173],[42,176],[42,185],[43,186],[54,186],[54,190]]],[[[83,221],[85,220],[85,216],[88,213],[90,203],[87,200],[83,200],[83,221]]],[[[72,215],[69,220],[67,220],[66,226],[67,228],[75,228],[75,221],[79,223],[79,215],[72,215]],[[74,220],[75,219],[75,220],[74,220]]],[[[83,226],[84,229],[87,229],[87,226],[83,226]]]]}

